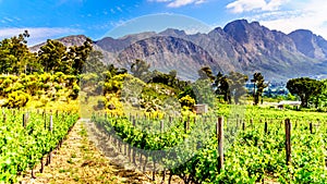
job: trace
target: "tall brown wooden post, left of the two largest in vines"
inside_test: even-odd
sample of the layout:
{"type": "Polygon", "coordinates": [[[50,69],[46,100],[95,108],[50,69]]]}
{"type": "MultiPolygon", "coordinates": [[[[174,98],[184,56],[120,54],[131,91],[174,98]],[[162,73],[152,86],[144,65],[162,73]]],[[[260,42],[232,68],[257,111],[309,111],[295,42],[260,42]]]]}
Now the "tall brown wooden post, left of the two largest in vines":
{"type": "Polygon", "coordinates": [[[216,134],[218,139],[218,172],[223,169],[223,116],[218,118],[216,124],[216,134]]]}

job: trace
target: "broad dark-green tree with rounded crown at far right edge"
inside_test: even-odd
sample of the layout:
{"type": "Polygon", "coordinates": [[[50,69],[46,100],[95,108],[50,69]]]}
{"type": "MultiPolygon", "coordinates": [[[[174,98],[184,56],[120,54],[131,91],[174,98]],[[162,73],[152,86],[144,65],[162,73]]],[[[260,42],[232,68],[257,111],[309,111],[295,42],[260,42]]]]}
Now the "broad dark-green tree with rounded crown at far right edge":
{"type": "Polygon", "coordinates": [[[308,77],[292,78],[287,83],[289,91],[300,97],[303,108],[308,107],[310,98],[317,97],[322,94],[323,86],[323,82],[308,77]]]}

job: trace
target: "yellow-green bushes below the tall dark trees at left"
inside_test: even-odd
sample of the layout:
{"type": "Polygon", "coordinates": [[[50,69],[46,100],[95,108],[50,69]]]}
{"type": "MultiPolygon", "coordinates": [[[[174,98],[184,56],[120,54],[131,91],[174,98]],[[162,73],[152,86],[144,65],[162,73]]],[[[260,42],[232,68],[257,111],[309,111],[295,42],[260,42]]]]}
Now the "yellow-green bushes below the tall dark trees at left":
{"type": "Polygon", "coordinates": [[[77,77],[62,72],[55,74],[0,75],[0,97],[4,107],[22,108],[28,100],[39,100],[46,106],[49,101],[69,101],[78,97],[77,77]]]}

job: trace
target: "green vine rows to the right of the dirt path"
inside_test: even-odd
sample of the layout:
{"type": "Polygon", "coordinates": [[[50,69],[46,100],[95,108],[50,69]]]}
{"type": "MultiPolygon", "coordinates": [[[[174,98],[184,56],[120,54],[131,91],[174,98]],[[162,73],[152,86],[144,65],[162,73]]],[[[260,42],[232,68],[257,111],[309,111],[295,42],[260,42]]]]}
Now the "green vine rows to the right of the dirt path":
{"type": "Polygon", "coordinates": [[[196,116],[104,113],[93,120],[118,151],[153,177],[178,175],[185,183],[327,182],[326,115],[259,108],[247,109],[243,116],[229,112],[220,107],[217,113],[196,116]]]}

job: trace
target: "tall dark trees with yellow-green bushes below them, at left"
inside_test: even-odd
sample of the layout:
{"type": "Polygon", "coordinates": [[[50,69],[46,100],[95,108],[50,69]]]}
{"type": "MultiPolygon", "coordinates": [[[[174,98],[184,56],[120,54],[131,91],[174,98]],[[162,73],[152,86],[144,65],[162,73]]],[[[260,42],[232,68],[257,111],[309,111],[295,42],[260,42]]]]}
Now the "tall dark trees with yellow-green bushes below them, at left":
{"type": "Polygon", "coordinates": [[[102,68],[87,61],[96,54],[89,38],[82,46],[69,48],[48,39],[37,52],[32,52],[28,37],[25,30],[0,41],[0,107],[21,108],[28,101],[37,108],[49,101],[69,102],[78,97],[83,70],[102,68]]]}

